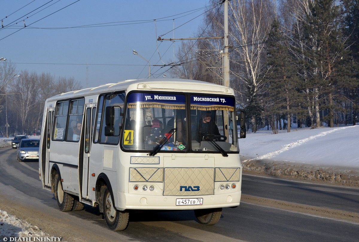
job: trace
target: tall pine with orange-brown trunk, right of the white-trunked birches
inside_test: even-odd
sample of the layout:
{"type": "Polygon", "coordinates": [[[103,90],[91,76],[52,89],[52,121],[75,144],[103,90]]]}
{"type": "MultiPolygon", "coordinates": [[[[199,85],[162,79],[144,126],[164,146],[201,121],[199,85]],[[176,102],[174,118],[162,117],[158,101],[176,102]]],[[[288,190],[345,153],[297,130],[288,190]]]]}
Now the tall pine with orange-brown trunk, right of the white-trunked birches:
{"type": "Polygon", "coordinates": [[[309,3],[310,14],[304,23],[307,33],[307,68],[311,72],[310,83],[314,93],[317,127],[319,105],[328,110],[328,122],[334,127],[334,110],[342,104],[339,90],[348,85],[345,78],[345,50],[339,18],[342,10],[334,0],[313,0],[309,3]]]}

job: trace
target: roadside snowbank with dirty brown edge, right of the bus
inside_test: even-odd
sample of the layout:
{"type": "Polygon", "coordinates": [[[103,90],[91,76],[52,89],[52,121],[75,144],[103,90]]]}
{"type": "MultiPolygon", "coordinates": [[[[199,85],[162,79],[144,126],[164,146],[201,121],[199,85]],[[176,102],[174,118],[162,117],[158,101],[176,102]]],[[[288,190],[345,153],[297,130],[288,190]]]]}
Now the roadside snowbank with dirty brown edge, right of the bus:
{"type": "Polygon", "coordinates": [[[239,140],[243,169],[359,186],[358,134],[359,125],[248,133],[239,140]]]}

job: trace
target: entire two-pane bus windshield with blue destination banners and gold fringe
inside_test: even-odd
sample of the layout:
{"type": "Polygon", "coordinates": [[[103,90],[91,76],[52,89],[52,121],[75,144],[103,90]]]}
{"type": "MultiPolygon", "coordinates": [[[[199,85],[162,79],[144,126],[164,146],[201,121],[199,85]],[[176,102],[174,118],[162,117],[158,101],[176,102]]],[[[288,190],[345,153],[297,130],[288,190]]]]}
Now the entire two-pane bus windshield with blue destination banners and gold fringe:
{"type": "Polygon", "coordinates": [[[191,149],[223,155],[238,152],[237,131],[233,125],[234,98],[188,97],[190,100],[186,102],[186,95],[182,94],[130,93],[123,127],[123,149],[154,152],[160,147],[158,152],[191,149]]]}

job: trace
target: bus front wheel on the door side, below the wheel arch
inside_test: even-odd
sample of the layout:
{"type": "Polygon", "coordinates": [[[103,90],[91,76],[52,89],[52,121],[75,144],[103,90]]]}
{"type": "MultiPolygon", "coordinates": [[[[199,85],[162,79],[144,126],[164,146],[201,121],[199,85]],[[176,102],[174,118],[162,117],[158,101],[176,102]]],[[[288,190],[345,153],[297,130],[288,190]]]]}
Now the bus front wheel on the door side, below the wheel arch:
{"type": "Polygon", "coordinates": [[[112,231],[121,231],[129,224],[129,213],[119,211],[113,206],[111,191],[106,186],[103,192],[103,216],[107,227],[112,231]]]}

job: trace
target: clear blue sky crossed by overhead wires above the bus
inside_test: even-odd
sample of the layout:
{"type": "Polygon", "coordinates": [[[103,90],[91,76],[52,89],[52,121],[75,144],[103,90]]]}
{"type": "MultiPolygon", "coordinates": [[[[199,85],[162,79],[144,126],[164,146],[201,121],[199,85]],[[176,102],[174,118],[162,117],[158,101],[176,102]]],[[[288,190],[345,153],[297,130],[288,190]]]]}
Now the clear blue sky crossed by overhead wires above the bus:
{"type": "Polygon", "coordinates": [[[173,49],[173,42],[157,41],[158,36],[167,33],[162,38],[173,38],[174,19],[174,38],[194,37],[208,4],[207,0],[3,0],[0,58],[15,63],[18,71],[74,77],[85,88],[87,73],[88,87],[147,78],[148,62],[132,54],[136,50],[150,61],[151,78],[162,77],[168,68],[152,65],[172,62],[181,42],[174,42],[173,49]],[[87,27],[74,28],[78,26],[87,27]]]}

